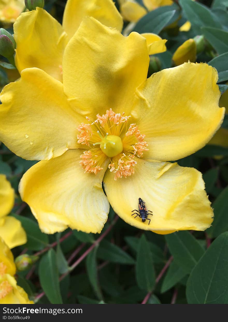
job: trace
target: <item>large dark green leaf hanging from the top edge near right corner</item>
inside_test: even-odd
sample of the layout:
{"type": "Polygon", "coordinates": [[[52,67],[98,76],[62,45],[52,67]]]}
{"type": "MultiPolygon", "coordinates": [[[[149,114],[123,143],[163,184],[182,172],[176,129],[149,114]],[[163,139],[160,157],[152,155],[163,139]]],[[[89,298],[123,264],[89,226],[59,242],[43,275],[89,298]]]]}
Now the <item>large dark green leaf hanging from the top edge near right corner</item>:
{"type": "Polygon", "coordinates": [[[197,33],[201,33],[200,28],[203,26],[222,28],[206,6],[192,0],[180,0],[179,4],[197,33]]]}

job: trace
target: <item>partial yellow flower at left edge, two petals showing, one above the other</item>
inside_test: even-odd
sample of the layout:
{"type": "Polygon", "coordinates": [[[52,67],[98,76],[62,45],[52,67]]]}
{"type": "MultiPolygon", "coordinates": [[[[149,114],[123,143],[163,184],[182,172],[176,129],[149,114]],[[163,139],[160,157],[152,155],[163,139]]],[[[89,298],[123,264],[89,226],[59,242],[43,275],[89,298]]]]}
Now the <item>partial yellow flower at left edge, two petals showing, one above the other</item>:
{"type": "Polygon", "coordinates": [[[23,245],[27,237],[21,222],[12,216],[7,216],[14,205],[14,189],[5,175],[0,175],[0,237],[9,248],[23,245]]]}

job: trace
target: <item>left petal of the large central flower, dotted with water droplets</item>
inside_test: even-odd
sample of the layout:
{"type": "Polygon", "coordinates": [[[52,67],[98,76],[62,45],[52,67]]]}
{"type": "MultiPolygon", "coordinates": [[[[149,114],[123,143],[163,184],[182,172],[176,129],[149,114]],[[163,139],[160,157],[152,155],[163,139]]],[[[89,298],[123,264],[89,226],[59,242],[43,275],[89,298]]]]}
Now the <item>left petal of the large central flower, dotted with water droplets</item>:
{"type": "Polygon", "coordinates": [[[0,99],[0,140],[18,156],[50,159],[79,146],[77,125],[84,118],[70,108],[62,83],[44,71],[22,71],[0,99]]]}

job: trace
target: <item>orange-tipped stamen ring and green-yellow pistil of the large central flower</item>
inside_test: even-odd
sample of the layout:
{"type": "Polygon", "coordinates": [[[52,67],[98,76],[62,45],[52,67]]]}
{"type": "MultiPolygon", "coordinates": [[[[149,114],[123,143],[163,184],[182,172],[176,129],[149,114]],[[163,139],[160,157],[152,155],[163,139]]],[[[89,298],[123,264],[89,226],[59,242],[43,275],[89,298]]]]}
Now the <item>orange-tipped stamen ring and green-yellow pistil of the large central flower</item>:
{"type": "Polygon", "coordinates": [[[128,124],[129,118],[109,109],[102,116],[97,114],[94,122],[82,123],[78,127],[78,143],[90,148],[81,155],[80,164],[85,172],[97,174],[108,157],[115,180],[134,174],[136,157],[140,158],[148,149],[145,135],[140,133],[136,124],[128,124]]]}

